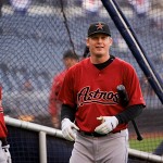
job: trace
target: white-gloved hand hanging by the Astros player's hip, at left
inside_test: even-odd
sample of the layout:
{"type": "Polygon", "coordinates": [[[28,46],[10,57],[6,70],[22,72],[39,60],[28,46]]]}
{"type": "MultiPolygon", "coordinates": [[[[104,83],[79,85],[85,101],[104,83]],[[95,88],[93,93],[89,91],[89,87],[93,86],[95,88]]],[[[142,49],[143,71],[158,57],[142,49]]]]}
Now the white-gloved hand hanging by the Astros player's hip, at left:
{"type": "Polygon", "coordinates": [[[62,124],[63,137],[67,140],[74,141],[76,137],[74,129],[79,130],[79,128],[74,123],[72,123],[68,118],[64,118],[61,124],[62,124]]]}

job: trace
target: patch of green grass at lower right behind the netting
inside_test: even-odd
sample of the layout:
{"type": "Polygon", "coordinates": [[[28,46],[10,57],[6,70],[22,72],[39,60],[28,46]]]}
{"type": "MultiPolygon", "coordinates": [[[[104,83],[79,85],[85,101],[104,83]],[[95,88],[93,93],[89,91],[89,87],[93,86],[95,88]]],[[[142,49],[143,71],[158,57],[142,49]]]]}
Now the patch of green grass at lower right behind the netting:
{"type": "Polygon", "coordinates": [[[163,137],[145,138],[142,141],[130,139],[129,147],[139,151],[153,152],[162,141],[163,137]]]}

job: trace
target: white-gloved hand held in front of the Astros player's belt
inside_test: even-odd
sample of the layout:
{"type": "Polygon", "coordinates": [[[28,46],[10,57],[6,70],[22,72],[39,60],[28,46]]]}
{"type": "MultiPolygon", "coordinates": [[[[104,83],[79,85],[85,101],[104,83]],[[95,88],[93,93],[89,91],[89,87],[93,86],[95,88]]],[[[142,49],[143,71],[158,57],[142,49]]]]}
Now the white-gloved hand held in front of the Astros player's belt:
{"type": "Polygon", "coordinates": [[[96,127],[95,131],[101,135],[112,131],[118,125],[115,116],[100,116],[97,120],[100,120],[102,124],[96,127]]]}

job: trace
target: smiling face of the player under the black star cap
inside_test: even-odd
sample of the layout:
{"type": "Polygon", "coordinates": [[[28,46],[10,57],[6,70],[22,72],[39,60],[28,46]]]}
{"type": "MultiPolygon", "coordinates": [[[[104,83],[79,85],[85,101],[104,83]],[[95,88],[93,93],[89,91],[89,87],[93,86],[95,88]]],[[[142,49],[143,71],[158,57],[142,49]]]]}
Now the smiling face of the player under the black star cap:
{"type": "Polygon", "coordinates": [[[109,55],[109,49],[112,45],[112,38],[104,34],[95,34],[87,39],[90,55],[102,58],[109,55]]]}

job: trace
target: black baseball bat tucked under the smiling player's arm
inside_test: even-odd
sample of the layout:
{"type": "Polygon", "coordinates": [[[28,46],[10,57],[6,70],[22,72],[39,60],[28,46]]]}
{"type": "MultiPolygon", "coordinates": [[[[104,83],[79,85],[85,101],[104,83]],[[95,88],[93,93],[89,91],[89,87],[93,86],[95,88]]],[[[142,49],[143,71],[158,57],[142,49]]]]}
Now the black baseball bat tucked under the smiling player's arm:
{"type": "MultiPolygon", "coordinates": [[[[127,91],[125,89],[125,86],[118,85],[116,89],[117,89],[117,92],[118,92],[118,96],[120,96],[120,103],[123,106],[126,106],[128,104],[128,96],[127,96],[127,91]]],[[[139,129],[138,129],[138,126],[137,126],[135,120],[131,120],[131,124],[133,124],[134,129],[137,134],[137,140],[141,141],[143,138],[142,138],[139,129]]]]}

